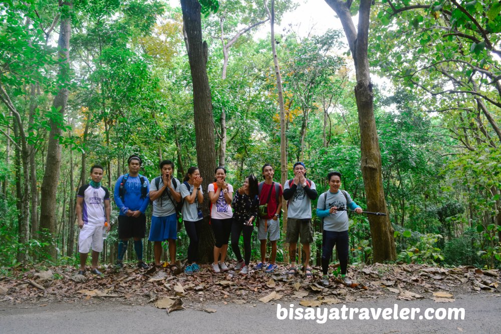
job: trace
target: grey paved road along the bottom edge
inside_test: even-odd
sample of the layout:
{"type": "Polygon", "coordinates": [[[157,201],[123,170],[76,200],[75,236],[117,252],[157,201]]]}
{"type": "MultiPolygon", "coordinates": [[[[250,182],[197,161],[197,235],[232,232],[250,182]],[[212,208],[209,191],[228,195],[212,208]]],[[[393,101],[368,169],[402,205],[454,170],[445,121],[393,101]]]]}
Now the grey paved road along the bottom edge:
{"type": "MultiPolygon", "coordinates": [[[[279,320],[277,303],[263,304],[257,301],[246,304],[207,304],[203,307],[216,309],[215,313],[200,311],[200,305],[188,304],[187,309],[165,310],[151,304],[128,305],[118,300],[89,300],[75,303],[52,303],[10,305],[0,303],[0,333],[500,333],[501,298],[490,293],[464,294],[455,296],[456,301],[436,303],[431,299],[400,301],[394,298],[364,300],[347,303],[347,307],[403,307],[420,308],[416,317],[432,307],[464,308],[464,320],[402,320],[355,319],[329,320],[279,320]],[[198,308],[198,309],[197,309],[198,308]]],[[[289,307],[290,302],[281,304],[289,307]]],[[[297,306],[297,305],[295,305],[297,306]]],[[[322,305],[336,307],[341,311],[343,304],[322,305]]],[[[318,308],[315,308],[317,311],[318,308]]],[[[400,311],[399,311],[400,312],[400,311]]],[[[282,313],[284,314],[284,313],[282,313]]],[[[327,313],[328,314],[328,313],[327,313]]],[[[347,313],[349,314],[349,313],[347,313]]],[[[341,313],[340,313],[341,315],[341,313]]]]}

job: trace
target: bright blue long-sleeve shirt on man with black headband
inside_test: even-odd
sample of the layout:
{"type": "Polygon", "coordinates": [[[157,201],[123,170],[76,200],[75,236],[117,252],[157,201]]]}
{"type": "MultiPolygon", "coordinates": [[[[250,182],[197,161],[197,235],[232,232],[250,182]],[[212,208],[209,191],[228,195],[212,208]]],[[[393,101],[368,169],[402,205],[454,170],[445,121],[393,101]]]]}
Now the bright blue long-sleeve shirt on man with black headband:
{"type": "Polygon", "coordinates": [[[131,211],[141,211],[144,213],[146,211],[146,208],[148,207],[148,204],[150,202],[150,185],[148,182],[148,179],[146,176],[144,177],[144,184],[143,186],[146,187],[146,197],[141,198],[141,177],[142,175],[138,176],[130,176],[127,178],[127,181],[124,184],[124,199],[122,201],[122,198],[120,197],[120,183],[122,183],[122,180],[124,176],[120,176],[115,183],[115,191],[114,191],[114,199],[115,199],[115,204],[118,206],[120,209],[120,215],[125,216],[125,213],[123,212],[122,208],[127,207],[131,211]]]}

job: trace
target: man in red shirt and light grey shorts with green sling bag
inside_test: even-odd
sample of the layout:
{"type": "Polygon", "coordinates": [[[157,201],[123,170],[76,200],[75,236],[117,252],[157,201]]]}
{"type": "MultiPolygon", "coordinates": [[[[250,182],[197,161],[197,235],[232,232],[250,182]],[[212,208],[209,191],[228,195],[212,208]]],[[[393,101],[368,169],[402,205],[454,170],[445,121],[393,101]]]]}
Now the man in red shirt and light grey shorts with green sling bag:
{"type": "Polygon", "coordinates": [[[280,213],[282,211],[282,185],[273,182],[275,171],[272,165],[265,164],[262,168],[264,182],[259,184],[259,204],[268,204],[268,214],[258,221],[258,239],[261,241],[261,262],[254,269],[266,267],[266,240],[268,235],[272,243],[272,253],[270,263],[266,267],[266,272],[273,272],[277,268],[275,260],[277,258],[277,240],[280,239],[280,213]]]}

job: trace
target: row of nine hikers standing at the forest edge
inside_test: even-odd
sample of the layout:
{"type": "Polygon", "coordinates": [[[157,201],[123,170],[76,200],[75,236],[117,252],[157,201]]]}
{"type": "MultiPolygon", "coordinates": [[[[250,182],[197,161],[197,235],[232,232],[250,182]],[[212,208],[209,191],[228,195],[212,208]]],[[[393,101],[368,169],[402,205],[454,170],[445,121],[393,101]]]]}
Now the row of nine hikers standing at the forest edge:
{"type": "MultiPolygon", "coordinates": [[[[141,158],[132,155],[127,160],[129,172],[121,175],[115,183],[114,201],[120,210],[118,216],[118,254],[116,266],[123,267],[123,258],[129,239],[134,240],[137,266],[147,269],[143,261],[143,241],[146,235],[145,211],[150,201],[153,205],[151,227],[148,236],[153,241],[155,266],[161,267],[162,242],[168,243],[170,270],[174,274],[183,271],[176,264],[176,239],[178,232],[178,211],[189,238],[187,262],[184,266],[186,275],[200,271],[198,265],[198,242],[201,236],[201,220],[203,214],[200,204],[203,202],[202,178],[197,167],[190,167],[182,182],[173,176],[174,163],[170,160],[160,162],[160,176],[151,182],[139,174],[141,158]]],[[[277,268],[277,241],[280,239],[280,220],[283,199],[288,201],[288,219],[286,242],[289,243],[291,264],[288,274],[295,275],[296,249],[299,237],[305,252],[304,274],[313,277],[310,263],[310,243],[313,242],[311,201],[318,197],[315,183],[306,177],[307,170],[303,162],[294,164],[294,178],[288,180],[284,187],[274,182],[274,169],[267,163],[262,168],[264,181],[249,175],[243,185],[234,191],[226,182],[226,169],[217,167],[214,170],[214,182],[207,187],[210,200],[210,226],[214,232],[215,245],[211,269],[218,273],[228,270],[225,263],[228,241],[231,236],[231,249],[236,256],[234,267],[240,274],[249,272],[250,242],[254,225],[258,228],[258,239],[261,242],[261,261],[254,270],[267,273],[277,268]],[[238,246],[243,234],[243,257],[238,246]],[[266,262],[267,240],[271,243],[269,262],[266,262]]],[[[90,170],[89,184],[80,187],[77,197],[77,218],[80,228],[79,252],[80,271],[86,273],[86,260],[92,248],[91,272],[101,274],[98,270],[99,253],[103,250],[103,234],[111,229],[110,194],[101,185],[104,169],[94,165],[90,170]]],[[[348,266],[348,215],[346,208],[362,213],[350,195],[340,189],[341,173],[329,172],[327,182],[329,190],[318,198],[317,216],[323,220],[322,240],[322,284],[329,284],[329,262],[334,246],[338,253],[341,268],[341,279],[351,284],[346,275],[348,266]]],[[[179,263],[179,262],[177,262],[179,263]]]]}

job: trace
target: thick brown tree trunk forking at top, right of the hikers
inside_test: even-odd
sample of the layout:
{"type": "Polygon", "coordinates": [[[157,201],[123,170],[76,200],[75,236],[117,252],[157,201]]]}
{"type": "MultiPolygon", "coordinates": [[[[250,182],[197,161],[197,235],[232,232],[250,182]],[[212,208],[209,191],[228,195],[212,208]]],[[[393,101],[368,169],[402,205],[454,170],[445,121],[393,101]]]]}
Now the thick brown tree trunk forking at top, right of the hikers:
{"type": "MultiPolygon", "coordinates": [[[[367,209],[368,211],[387,212],[381,173],[381,151],[374,117],[374,96],[367,56],[371,0],[360,0],[358,33],[350,14],[351,1],[345,3],[341,0],[326,0],[326,3],[341,20],[355,62],[357,77],[355,99],[360,124],[361,168],[367,197],[367,209]]],[[[389,217],[370,215],[369,224],[373,240],[374,261],[394,260],[396,258],[395,241],[389,217]]]]}

